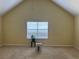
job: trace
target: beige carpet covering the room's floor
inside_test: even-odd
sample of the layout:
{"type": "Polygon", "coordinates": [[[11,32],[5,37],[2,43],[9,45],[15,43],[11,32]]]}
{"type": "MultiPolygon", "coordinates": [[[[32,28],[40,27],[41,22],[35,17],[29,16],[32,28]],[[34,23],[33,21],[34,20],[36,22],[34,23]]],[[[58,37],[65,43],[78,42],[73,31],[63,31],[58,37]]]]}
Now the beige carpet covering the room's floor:
{"type": "Polygon", "coordinates": [[[74,48],[42,47],[37,53],[36,48],[2,47],[0,59],[79,59],[79,51],[74,48]]]}

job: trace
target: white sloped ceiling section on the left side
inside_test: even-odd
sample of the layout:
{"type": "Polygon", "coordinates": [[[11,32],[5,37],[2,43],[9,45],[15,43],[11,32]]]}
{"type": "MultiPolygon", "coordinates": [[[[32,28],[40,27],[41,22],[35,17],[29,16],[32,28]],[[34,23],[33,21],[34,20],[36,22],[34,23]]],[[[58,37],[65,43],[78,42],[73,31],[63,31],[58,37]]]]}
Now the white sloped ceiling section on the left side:
{"type": "Polygon", "coordinates": [[[11,10],[23,0],[0,0],[0,16],[11,10]]]}

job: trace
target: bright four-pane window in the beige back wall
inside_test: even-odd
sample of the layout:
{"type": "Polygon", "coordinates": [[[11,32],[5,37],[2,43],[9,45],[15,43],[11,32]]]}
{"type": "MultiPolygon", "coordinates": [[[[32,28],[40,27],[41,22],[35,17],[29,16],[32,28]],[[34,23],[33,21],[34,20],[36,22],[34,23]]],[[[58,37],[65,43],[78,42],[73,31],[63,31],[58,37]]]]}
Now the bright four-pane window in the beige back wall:
{"type": "Polygon", "coordinates": [[[27,38],[48,39],[48,22],[27,22],[27,38]]]}

